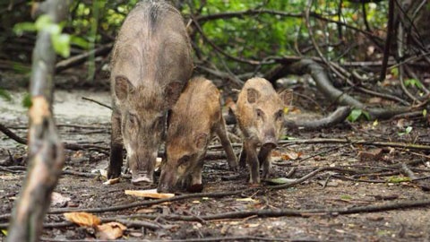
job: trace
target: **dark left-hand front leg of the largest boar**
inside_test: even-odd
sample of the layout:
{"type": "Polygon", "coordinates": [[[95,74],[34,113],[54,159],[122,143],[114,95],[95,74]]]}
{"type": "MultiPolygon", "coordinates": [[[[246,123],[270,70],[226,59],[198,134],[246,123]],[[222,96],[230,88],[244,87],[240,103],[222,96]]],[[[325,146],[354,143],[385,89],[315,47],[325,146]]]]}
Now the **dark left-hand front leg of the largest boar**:
{"type": "Polygon", "coordinates": [[[121,175],[123,165],[123,135],[121,134],[121,114],[112,112],[112,135],[110,136],[110,160],[107,169],[107,178],[116,178],[121,175]]]}

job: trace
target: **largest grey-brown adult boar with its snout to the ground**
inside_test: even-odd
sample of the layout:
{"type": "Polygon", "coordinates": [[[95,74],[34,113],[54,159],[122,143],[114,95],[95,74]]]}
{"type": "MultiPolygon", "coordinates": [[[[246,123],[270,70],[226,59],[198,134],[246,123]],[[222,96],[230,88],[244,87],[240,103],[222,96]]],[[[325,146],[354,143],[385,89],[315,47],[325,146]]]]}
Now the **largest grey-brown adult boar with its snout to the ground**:
{"type": "Polygon", "coordinates": [[[113,111],[107,177],[120,176],[124,144],[132,183],[151,183],[168,109],[193,70],[180,13],[164,1],[137,4],[116,37],[111,67],[113,111]]]}

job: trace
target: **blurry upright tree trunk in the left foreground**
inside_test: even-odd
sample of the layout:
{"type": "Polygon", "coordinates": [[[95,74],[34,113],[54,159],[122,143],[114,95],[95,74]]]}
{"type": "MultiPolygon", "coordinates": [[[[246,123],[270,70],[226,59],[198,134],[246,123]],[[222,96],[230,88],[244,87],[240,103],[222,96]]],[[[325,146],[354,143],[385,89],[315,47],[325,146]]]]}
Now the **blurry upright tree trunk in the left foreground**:
{"type": "MultiPolygon", "coordinates": [[[[38,5],[39,13],[46,13],[53,22],[60,22],[67,14],[69,4],[70,1],[47,0],[38,5]]],[[[46,30],[40,30],[33,50],[30,82],[30,165],[20,198],[13,209],[6,239],[9,242],[39,240],[51,193],[64,164],[63,145],[52,117],[55,62],[51,36],[46,30]]]]}

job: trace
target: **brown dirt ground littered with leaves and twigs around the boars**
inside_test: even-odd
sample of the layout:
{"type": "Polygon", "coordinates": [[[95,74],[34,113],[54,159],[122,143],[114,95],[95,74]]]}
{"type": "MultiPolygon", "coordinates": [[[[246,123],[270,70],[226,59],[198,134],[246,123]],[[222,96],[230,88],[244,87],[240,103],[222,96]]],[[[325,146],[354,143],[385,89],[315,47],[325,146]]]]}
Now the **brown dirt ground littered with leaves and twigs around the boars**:
{"type": "MultiPolygon", "coordinates": [[[[16,134],[26,137],[26,110],[20,103],[22,91],[13,92],[13,102],[0,99],[0,123],[16,134]]],[[[57,91],[56,122],[58,131],[66,143],[95,144],[108,147],[110,110],[83,100],[97,99],[109,104],[107,92],[57,91]]],[[[289,118],[304,118],[304,114],[292,113],[289,118]]],[[[228,126],[233,132],[234,127],[228,126]]],[[[430,145],[430,129],[421,118],[392,121],[336,125],[320,131],[290,131],[288,136],[297,139],[365,139],[368,141],[422,143],[430,145]],[[406,126],[412,126],[409,134],[400,136],[406,126]]],[[[236,141],[237,142],[237,141],[236,141]]],[[[216,144],[214,141],[213,144],[216,144]]],[[[211,147],[217,150],[216,146],[211,147]]],[[[235,145],[235,151],[240,151],[235,145]]],[[[25,177],[25,145],[15,143],[0,134],[0,214],[10,213],[19,195],[25,177]],[[9,158],[11,153],[13,161],[9,158]],[[9,163],[9,164],[7,164],[9,163]],[[21,169],[20,169],[21,168],[21,169]]],[[[242,191],[241,194],[219,197],[194,197],[176,202],[138,206],[113,212],[95,213],[100,218],[129,219],[125,235],[127,241],[183,240],[183,241],[429,241],[430,208],[415,207],[392,209],[386,212],[361,212],[348,215],[336,212],[302,214],[302,216],[224,218],[204,220],[205,215],[224,212],[246,212],[280,209],[309,210],[330,208],[355,208],[386,203],[402,203],[430,199],[426,187],[430,186],[430,153],[389,146],[357,145],[343,143],[285,143],[274,153],[272,177],[286,177],[293,168],[291,179],[304,177],[321,167],[351,169],[323,171],[305,182],[285,189],[268,189],[271,184],[262,183],[253,192],[247,184],[246,170],[240,176],[228,170],[226,160],[206,160],[203,170],[204,193],[242,191]],[[366,158],[366,151],[382,148],[381,156],[366,158]],[[298,156],[298,158],[297,158],[298,156]],[[314,156],[311,159],[308,157],[314,156]],[[303,160],[303,161],[300,161],[303,160]],[[413,163],[408,163],[414,161],[413,163]],[[416,177],[422,180],[410,182],[401,172],[400,164],[408,163],[416,177]],[[365,172],[366,171],[366,172],[365,172]],[[170,220],[168,215],[192,216],[194,221],[170,220]],[[137,218],[139,215],[144,218],[137,218]],[[150,215],[153,215],[150,217],[150,215]],[[133,216],[133,219],[132,219],[133,216]],[[150,219],[152,218],[152,219],[150,219]],[[142,227],[142,222],[155,224],[159,229],[142,227]]],[[[126,195],[125,190],[136,189],[128,177],[122,177],[115,185],[103,185],[103,178],[95,170],[107,168],[107,151],[66,151],[63,175],[56,186],[57,197],[50,210],[82,210],[109,208],[143,202],[148,199],[126,195]],[[74,172],[74,174],[72,174],[74,172]],[[80,172],[80,173],[77,173],[80,172]],[[83,175],[88,175],[84,177],[83,175]],[[92,174],[92,175],[91,175],[92,174]]],[[[158,177],[157,177],[158,178],[158,177]]],[[[153,188],[148,186],[143,188],[153,188]]],[[[1,217],[4,232],[7,219],[1,217]]],[[[94,240],[94,229],[79,228],[64,223],[64,216],[48,214],[43,232],[47,241],[94,240]]],[[[0,241],[4,233],[0,233],[0,241]]]]}

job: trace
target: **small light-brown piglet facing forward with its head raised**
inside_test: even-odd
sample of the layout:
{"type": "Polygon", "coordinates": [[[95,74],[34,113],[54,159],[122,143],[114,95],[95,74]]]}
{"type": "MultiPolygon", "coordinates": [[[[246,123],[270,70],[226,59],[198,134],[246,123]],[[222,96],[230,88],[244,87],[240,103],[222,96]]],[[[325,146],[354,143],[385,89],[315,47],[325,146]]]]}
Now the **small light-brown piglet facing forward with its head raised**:
{"type": "Polygon", "coordinates": [[[262,177],[270,175],[271,150],[278,145],[284,122],[284,108],[292,99],[291,91],[278,94],[271,82],[263,78],[252,78],[245,82],[237,98],[236,118],[244,135],[244,145],[239,163],[249,167],[250,183],[260,183],[262,177]],[[257,155],[257,148],[260,151],[257,155]]]}

